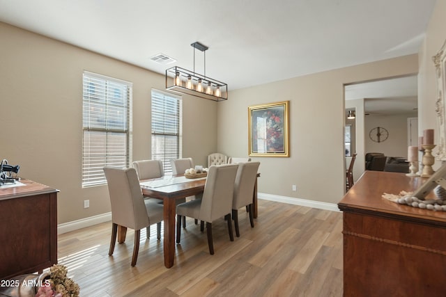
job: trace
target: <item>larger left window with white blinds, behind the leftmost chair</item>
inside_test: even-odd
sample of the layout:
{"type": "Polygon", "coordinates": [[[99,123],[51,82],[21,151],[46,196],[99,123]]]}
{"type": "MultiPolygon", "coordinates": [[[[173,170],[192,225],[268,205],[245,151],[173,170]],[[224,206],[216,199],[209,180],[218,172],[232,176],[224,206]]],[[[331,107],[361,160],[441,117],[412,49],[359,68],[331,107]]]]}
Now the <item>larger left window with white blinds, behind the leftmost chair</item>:
{"type": "Polygon", "coordinates": [[[84,72],[82,186],[106,184],[104,166],[128,167],[132,83],[84,72]]]}

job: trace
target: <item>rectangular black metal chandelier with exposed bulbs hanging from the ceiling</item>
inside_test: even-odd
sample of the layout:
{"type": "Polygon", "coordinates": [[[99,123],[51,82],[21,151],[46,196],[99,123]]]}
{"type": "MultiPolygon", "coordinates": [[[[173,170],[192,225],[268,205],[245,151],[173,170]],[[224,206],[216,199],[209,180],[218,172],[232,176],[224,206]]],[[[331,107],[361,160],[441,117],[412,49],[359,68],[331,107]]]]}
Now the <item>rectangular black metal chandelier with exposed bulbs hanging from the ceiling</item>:
{"type": "Polygon", "coordinates": [[[206,77],[206,50],[208,47],[200,42],[191,45],[194,48],[194,70],[185,70],[181,67],[171,67],[166,70],[166,89],[174,90],[192,96],[197,96],[213,101],[228,99],[228,85],[210,77],[206,77]],[[203,51],[204,74],[195,72],[195,49],[203,51]]]}

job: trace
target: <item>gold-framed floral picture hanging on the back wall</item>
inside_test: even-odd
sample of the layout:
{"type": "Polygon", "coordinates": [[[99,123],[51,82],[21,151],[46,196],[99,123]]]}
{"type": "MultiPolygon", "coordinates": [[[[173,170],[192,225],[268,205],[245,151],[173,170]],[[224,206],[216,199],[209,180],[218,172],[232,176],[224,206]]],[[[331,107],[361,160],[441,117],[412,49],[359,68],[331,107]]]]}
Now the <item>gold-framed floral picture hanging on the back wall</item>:
{"type": "Polygon", "coordinates": [[[289,101],[248,107],[249,156],[289,156],[289,101]]]}

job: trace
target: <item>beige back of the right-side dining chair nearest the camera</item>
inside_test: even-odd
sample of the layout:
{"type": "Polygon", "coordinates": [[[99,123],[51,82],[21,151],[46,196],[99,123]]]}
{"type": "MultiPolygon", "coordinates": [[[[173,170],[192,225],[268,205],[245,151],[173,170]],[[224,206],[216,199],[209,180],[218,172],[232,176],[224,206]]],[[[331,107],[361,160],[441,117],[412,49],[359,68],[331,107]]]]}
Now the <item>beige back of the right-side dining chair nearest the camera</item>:
{"type": "Polygon", "coordinates": [[[199,219],[208,223],[231,214],[238,165],[210,166],[204,185],[199,219]]]}

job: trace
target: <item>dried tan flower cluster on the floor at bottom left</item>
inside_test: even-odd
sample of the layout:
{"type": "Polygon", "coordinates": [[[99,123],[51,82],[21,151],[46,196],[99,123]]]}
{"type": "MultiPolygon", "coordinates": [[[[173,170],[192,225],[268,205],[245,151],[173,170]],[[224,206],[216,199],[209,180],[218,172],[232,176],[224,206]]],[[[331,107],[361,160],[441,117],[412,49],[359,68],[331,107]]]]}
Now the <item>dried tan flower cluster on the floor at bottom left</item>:
{"type": "Polygon", "coordinates": [[[49,275],[41,284],[36,297],[77,297],[79,285],[71,278],[67,278],[68,269],[61,264],[54,264],[49,268],[49,275]]]}

